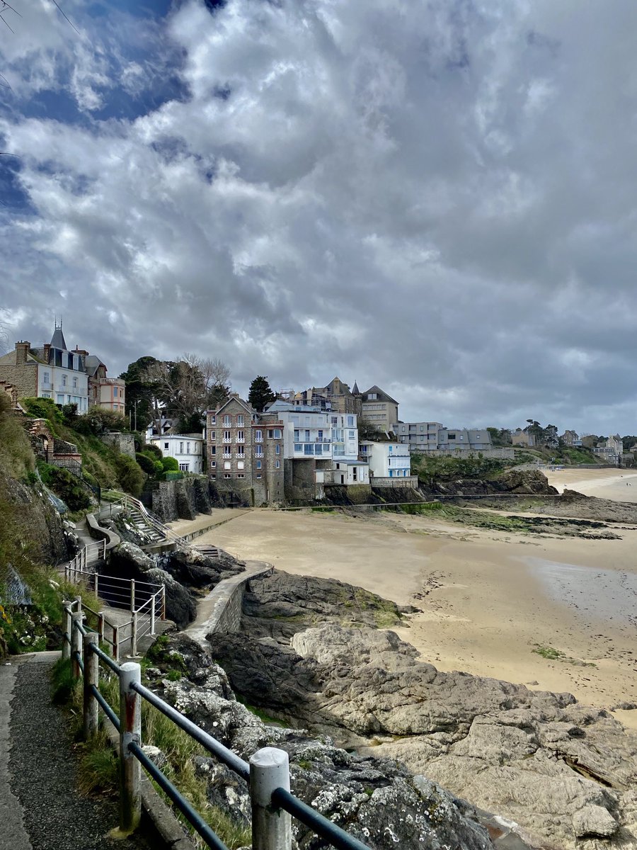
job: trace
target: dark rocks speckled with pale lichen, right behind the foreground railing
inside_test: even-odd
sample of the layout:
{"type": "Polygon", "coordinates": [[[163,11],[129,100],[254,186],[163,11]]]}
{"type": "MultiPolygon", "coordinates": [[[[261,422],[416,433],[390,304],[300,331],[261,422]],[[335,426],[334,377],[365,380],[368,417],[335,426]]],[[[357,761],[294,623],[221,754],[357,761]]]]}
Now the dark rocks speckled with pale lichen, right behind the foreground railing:
{"type": "MultiPolygon", "coordinates": [[[[159,669],[147,671],[164,699],[245,760],[262,746],[287,751],[293,793],[369,847],[493,847],[487,830],[476,822],[475,810],[430,779],[409,774],[393,759],[354,755],[329,740],[313,740],[303,730],[263,723],[234,699],[211,655],[183,635],[171,638],[162,652],[172,669],[178,666],[185,674],[172,682],[159,669]]],[[[197,773],[206,778],[208,799],[247,823],[245,782],[216,759],[197,757],[195,763],[197,773]]],[[[293,831],[299,850],[318,846],[316,836],[294,819],[293,831]]]]}

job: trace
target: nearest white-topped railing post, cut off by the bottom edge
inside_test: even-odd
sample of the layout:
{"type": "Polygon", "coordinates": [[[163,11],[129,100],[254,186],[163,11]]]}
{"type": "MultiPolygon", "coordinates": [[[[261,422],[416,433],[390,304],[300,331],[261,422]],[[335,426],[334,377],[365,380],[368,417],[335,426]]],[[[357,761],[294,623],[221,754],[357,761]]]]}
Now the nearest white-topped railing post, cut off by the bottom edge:
{"type": "Polygon", "coordinates": [[[290,760],[284,750],[266,746],[250,759],[250,798],[252,803],[252,850],[290,850],[290,815],[274,808],[276,788],[290,791],[290,760]]]}

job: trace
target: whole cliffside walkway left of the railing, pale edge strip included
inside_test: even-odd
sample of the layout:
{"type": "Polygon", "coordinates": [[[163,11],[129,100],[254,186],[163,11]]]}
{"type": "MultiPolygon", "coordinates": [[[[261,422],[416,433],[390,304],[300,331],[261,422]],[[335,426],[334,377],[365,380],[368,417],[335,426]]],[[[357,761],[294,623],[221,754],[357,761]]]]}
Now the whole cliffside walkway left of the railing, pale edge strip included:
{"type": "Polygon", "coordinates": [[[149,850],[116,841],[116,801],[76,790],[77,755],[64,712],[51,703],[57,652],[0,662],[0,847],[10,850],[149,850]]]}

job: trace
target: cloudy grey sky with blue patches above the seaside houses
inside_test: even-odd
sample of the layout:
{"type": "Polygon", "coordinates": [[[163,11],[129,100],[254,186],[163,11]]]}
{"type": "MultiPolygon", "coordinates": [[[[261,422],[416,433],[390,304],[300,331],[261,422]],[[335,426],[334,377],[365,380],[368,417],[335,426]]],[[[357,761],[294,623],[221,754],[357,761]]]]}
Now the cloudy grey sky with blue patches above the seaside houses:
{"type": "Polygon", "coordinates": [[[634,0],[14,0],[0,320],[637,433],[634,0]]]}

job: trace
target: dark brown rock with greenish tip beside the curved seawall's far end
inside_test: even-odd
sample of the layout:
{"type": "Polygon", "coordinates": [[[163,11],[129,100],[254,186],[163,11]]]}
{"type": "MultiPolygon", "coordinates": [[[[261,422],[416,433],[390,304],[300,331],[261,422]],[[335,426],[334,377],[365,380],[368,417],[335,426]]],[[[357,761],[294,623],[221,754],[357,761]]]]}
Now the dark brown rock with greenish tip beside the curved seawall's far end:
{"type": "MultiPolygon", "coordinates": [[[[387,628],[401,622],[397,604],[344,581],[274,571],[251,579],[241,628],[256,638],[290,638],[318,623],[387,628]]],[[[410,609],[415,610],[415,609],[410,609]]]]}

